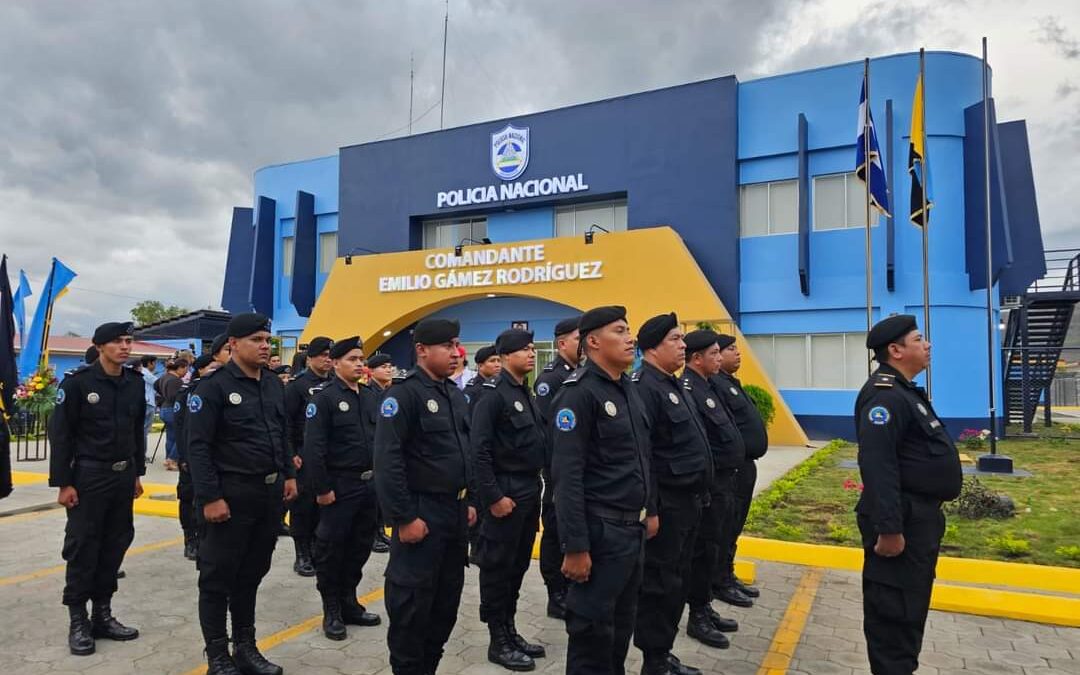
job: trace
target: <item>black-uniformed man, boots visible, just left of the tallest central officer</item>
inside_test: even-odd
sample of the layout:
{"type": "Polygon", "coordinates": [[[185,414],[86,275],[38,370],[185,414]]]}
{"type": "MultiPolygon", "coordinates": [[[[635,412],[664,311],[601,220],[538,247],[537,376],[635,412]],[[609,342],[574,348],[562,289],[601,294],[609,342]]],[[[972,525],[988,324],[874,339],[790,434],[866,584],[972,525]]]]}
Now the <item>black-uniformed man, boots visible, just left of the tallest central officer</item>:
{"type": "Polygon", "coordinates": [[[548,436],[526,379],[536,368],[532,334],[504,330],[495,347],[502,370],[484,382],[487,393],[473,405],[470,428],[476,498],[487,512],[476,549],[480,618],[490,635],[487,660],[531,671],[534,659],[546,653],[517,633],[514,617],[540,526],[548,436]]]}

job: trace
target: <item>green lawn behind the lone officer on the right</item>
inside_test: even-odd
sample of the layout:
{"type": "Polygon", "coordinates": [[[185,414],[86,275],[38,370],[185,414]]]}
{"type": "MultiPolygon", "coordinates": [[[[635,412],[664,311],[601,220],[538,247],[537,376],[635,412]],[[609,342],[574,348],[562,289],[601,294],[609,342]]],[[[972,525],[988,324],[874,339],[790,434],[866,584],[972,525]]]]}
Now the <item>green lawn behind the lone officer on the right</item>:
{"type": "MultiPolygon", "coordinates": [[[[972,521],[949,514],[942,554],[1080,568],[1080,441],[1003,441],[998,450],[1034,474],[978,478],[1012,497],[1016,515],[972,521]]],[[[972,459],[977,454],[960,451],[972,459]]],[[[859,470],[838,467],[854,458],[855,446],[834,441],[787,472],[755,498],[746,534],[858,548],[859,490],[845,489],[845,483],[858,484],[859,470]]]]}

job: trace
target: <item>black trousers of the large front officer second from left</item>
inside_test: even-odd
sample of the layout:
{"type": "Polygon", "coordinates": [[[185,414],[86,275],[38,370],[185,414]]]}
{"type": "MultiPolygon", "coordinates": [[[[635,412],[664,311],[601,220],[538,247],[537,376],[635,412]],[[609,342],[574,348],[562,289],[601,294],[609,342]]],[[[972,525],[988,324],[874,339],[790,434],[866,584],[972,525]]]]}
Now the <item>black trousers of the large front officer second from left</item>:
{"type": "Polygon", "coordinates": [[[207,644],[228,635],[227,611],[233,632],[255,626],[256,594],[270,570],[284,512],[281,475],[267,483],[262,475],[222,473],[221,495],[230,517],[202,523],[199,545],[199,623],[207,644]]]}

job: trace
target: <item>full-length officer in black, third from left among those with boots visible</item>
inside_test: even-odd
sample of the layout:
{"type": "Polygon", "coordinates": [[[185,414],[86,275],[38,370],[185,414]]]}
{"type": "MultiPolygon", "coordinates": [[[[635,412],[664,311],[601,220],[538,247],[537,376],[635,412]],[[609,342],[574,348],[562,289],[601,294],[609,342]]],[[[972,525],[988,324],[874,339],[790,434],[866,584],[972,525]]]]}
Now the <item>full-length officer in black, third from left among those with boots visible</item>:
{"type": "Polygon", "coordinates": [[[360,337],[335,342],[329,355],[334,375],[305,410],[308,421],[301,457],[320,509],[314,554],[323,633],[340,640],[347,636],[346,624],[378,625],[381,621],[356,602],[376,529],[375,430],[368,419],[378,401],[360,386],[364,375],[360,337]]]}

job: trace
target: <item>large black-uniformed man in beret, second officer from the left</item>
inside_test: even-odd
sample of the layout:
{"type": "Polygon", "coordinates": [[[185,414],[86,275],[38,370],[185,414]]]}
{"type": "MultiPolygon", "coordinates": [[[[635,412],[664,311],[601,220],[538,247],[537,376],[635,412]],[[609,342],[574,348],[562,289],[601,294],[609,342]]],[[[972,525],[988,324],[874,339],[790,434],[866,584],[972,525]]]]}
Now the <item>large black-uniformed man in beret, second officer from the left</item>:
{"type": "Polygon", "coordinates": [[[270,569],[282,502],[296,498],[296,470],[285,445],[285,393],[266,367],[270,320],[238,314],[227,335],[229,363],[199,382],[185,421],[195,505],[205,522],[199,623],[208,675],[281,675],[255,646],[255,597],[270,569]],[[231,657],[227,612],[235,645],[231,657]]]}

